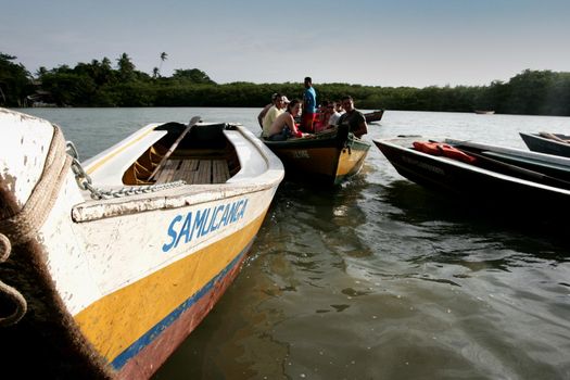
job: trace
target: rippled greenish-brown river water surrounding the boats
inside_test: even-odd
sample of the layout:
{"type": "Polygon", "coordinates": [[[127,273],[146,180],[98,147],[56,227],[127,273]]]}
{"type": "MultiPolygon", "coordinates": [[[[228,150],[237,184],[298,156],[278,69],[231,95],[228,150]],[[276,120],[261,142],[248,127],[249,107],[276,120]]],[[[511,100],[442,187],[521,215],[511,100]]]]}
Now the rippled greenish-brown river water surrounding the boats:
{"type": "MultiPolygon", "coordinates": [[[[31,109],[85,160],[151,122],[256,109],[31,109]]],[[[387,111],[365,140],[524,148],[570,118],[387,111]]],[[[523,205],[521,205],[523,207],[523,205]]],[[[283,182],[242,273],[155,379],[569,379],[570,244],[401,177],[372,145],[335,189],[283,182]]]]}

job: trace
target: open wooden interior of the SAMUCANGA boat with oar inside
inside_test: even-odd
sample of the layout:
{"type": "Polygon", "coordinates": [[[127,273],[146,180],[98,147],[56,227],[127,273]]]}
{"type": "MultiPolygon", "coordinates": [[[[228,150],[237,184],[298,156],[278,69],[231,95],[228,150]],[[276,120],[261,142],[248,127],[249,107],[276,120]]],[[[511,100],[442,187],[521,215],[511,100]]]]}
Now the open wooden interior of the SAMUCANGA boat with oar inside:
{"type": "Polygon", "coordinates": [[[140,186],[176,180],[189,185],[224,183],[240,170],[236,148],[224,134],[227,124],[193,125],[178,141],[185,127],[179,123],[156,127],[155,131],[167,134],[126,169],[123,183],[140,186]]]}

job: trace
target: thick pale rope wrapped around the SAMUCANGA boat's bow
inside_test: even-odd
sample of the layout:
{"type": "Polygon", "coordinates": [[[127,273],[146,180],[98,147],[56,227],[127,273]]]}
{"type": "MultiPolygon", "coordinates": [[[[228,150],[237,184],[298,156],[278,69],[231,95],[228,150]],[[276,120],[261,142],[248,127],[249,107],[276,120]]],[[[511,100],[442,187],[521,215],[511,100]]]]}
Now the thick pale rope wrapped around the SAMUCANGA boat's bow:
{"type": "MultiPolygon", "coordinates": [[[[14,215],[0,220],[0,263],[8,261],[12,245],[33,239],[46,221],[72,165],[65,153],[65,140],[60,127],[53,126],[53,138],[43,164],[43,172],[26,204],[14,215]]],[[[16,324],[26,314],[27,302],[15,288],[0,280],[0,292],[14,303],[14,313],[0,317],[0,326],[16,324]]]]}

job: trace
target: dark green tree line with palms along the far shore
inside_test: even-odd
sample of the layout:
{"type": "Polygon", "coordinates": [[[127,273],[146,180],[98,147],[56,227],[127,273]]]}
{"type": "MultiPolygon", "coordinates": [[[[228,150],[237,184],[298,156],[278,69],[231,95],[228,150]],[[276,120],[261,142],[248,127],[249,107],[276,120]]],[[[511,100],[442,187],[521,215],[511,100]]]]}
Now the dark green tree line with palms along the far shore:
{"type": "MultiPolygon", "coordinates": [[[[162,62],[167,59],[161,53],[162,62]]],[[[164,77],[136,68],[127,53],[115,63],[103,58],[75,67],[40,67],[31,75],[16,58],[0,52],[0,105],[28,106],[253,106],[265,105],[274,92],[302,94],[301,83],[216,84],[198,68],[175,69],[164,77]]],[[[425,88],[315,84],[319,100],[351,94],[359,109],[472,112],[570,116],[570,73],[525,69],[507,83],[489,86],[425,88]]]]}

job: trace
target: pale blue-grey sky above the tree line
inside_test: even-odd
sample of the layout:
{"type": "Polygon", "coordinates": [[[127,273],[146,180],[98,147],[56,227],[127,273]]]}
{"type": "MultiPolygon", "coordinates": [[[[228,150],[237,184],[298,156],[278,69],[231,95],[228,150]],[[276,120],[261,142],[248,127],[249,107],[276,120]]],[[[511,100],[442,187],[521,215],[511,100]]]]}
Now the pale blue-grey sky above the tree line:
{"type": "Polygon", "coordinates": [[[570,72],[569,37],[569,0],[0,0],[0,52],[33,74],[127,53],[218,84],[486,86],[570,72]]]}

